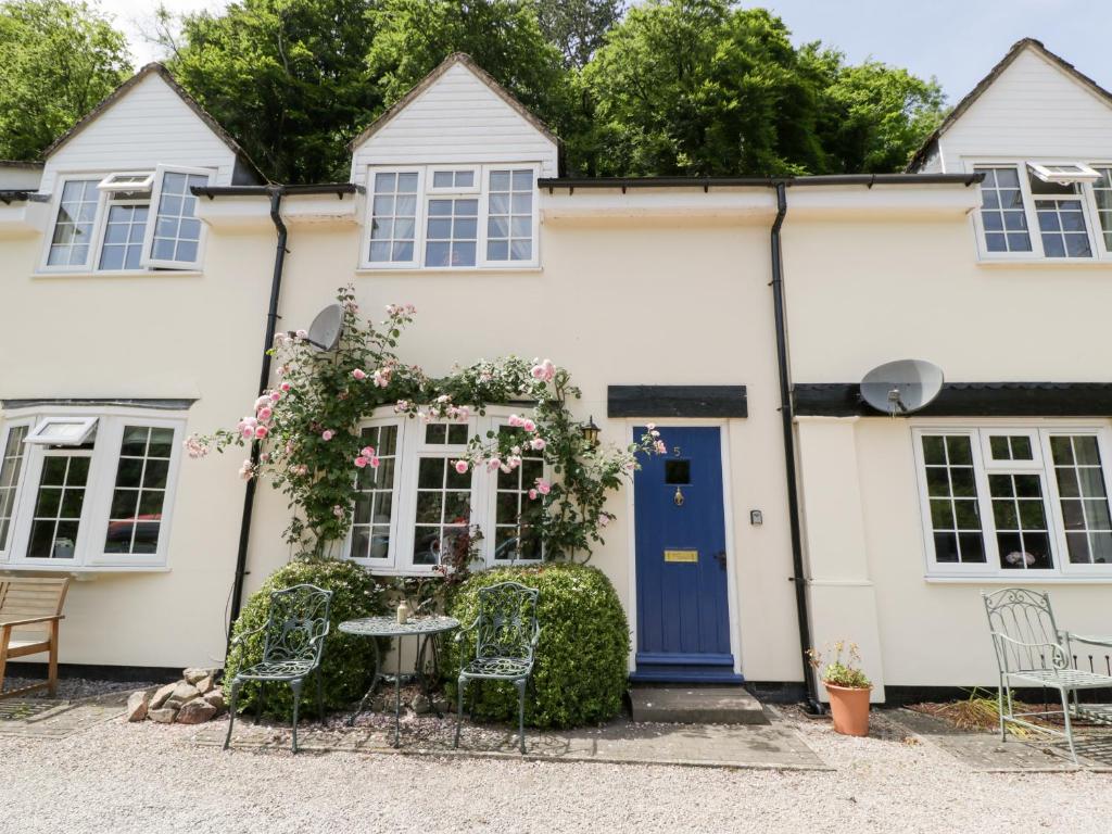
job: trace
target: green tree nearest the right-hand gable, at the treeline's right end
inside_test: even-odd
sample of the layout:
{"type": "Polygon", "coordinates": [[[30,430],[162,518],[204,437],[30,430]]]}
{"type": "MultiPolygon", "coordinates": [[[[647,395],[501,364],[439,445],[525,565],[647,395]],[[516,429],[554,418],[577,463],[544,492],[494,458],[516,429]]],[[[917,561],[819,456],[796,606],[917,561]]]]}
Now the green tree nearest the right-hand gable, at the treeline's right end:
{"type": "Polygon", "coordinates": [[[945,116],[933,78],[880,61],[844,66],[840,52],[817,44],[803,57],[823,79],[816,129],[832,172],[900,170],[945,116]]]}

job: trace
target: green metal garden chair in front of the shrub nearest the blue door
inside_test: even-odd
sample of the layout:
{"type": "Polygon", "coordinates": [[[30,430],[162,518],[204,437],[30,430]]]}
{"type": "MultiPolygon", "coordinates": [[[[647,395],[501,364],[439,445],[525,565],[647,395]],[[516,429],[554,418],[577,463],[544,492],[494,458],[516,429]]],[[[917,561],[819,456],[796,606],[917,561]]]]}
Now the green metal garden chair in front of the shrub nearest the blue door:
{"type": "Polygon", "coordinates": [[[516,582],[504,582],[479,590],[478,616],[456,634],[456,643],[461,644],[468,633],[475,632],[475,658],[468,662],[460,656],[454,746],[459,746],[467,683],[509,681],[517,687],[518,744],[525,753],[525,687],[533,674],[534,655],[540,639],[538,595],[536,588],[516,582]]]}

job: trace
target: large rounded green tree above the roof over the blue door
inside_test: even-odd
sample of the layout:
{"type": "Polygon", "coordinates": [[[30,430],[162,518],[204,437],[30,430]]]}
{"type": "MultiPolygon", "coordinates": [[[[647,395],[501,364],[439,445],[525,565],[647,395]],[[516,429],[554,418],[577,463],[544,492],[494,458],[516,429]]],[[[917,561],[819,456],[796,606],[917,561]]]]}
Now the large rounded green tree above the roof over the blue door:
{"type": "Polygon", "coordinates": [[[726,0],[648,0],[583,72],[592,136],[580,167],[610,175],[821,170],[814,73],[784,23],[726,0]]]}

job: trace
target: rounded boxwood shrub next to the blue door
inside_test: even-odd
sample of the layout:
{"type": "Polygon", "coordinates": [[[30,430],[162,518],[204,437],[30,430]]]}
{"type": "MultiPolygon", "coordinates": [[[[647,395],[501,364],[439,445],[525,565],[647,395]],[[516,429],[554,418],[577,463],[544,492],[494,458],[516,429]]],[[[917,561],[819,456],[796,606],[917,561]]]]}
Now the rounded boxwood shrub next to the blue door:
{"type": "MultiPolygon", "coordinates": [[[[506,567],[474,574],[449,602],[448,613],[464,625],[475,622],[479,588],[514,580],[537,588],[540,642],[533,679],[526,691],[525,721],[534,727],[574,727],[608,721],[622,709],[626,691],[629,626],[625,610],[606,576],[594,567],[547,563],[536,567],[506,567]]],[[[445,641],[443,673],[455,704],[459,652],[475,656],[468,635],[461,647],[445,641]]],[[[513,684],[471,681],[467,703],[476,718],[517,721],[513,684]]]]}

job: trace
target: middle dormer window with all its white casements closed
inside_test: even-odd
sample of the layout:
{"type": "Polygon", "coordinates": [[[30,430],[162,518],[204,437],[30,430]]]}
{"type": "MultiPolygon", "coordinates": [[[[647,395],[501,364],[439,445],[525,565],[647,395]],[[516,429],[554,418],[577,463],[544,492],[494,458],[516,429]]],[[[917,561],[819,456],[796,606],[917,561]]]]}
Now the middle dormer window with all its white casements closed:
{"type": "Polygon", "coordinates": [[[537,265],[535,165],[370,169],[371,269],[537,265]]]}

